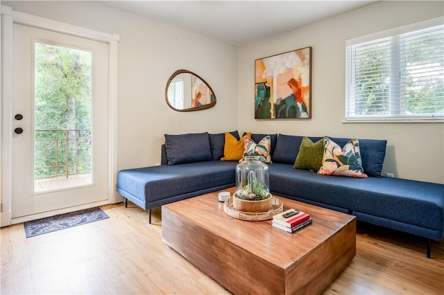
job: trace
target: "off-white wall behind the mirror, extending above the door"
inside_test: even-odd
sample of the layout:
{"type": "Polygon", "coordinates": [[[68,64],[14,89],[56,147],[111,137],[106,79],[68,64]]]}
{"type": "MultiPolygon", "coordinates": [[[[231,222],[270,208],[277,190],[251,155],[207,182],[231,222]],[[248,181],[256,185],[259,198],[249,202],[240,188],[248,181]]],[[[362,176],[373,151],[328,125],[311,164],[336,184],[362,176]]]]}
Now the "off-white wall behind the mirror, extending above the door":
{"type": "Polygon", "coordinates": [[[160,163],[164,134],[237,128],[237,48],[89,1],[2,1],[31,15],[105,33],[119,42],[117,169],[160,163]],[[203,111],[173,111],[165,101],[170,75],[187,69],[216,94],[203,111]],[[223,123],[223,124],[221,124],[223,123]]]}

